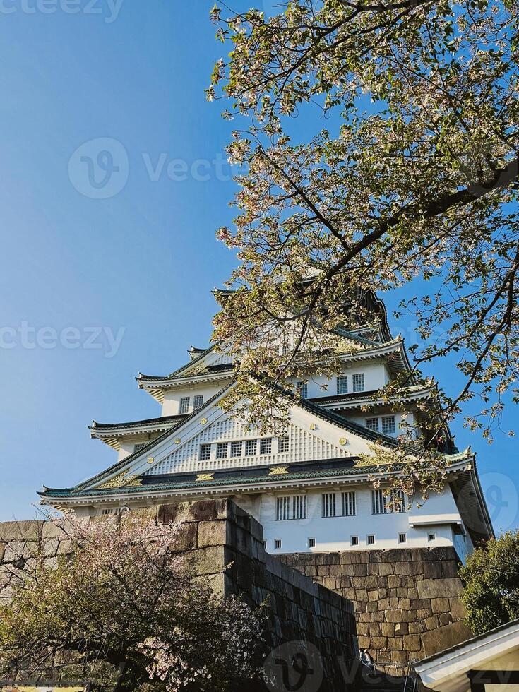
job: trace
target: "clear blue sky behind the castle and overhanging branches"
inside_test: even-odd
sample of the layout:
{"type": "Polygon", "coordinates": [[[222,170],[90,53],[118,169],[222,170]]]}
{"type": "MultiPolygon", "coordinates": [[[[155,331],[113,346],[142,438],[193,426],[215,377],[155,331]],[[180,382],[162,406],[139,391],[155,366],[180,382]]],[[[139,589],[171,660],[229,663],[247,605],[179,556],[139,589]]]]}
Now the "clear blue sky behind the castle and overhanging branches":
{"type": "MultiPolygon", "coordinates": [[[[234,184],[232,124],[204,95],[222,51],[212,4],[0,0],[0,520],[113,463],[87,425],[159,415],[138,371],[208,343],[210,290],[234,263],[215,239],[234,184]]],[[[448,363],[430,374],[455,393],[448,363]]],[[[496,529],[515,527],[517,441],[454,431],[496,529]]]]}

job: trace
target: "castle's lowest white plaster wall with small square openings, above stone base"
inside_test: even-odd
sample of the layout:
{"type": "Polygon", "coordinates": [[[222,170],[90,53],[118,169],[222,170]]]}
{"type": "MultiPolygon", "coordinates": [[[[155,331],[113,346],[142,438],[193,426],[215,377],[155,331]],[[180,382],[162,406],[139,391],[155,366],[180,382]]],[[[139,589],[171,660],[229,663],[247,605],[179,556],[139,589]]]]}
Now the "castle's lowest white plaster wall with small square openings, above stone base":
{"type": "MultiPolygon", "coordinates": [[[[451,525],[434,525],[433,523],[412,528],[409,525],[410,511],[381,515],[372,514],[371,488],[364,486],[342,487],[342,489],[354,489],[357,493],[357,514],[355,516],[323,518],[321,505],[323,491],[309,491],[306,496],[306,519],[277,521],[275,520],[276,494],[263,495],[258,520],[263,525],[267,550],[272,553],[292,553],[453,545],[451,525]],[[407,541],[404,544],[398,541],[399,533],[406,534],[407,541]],[[436,536],[432,542],[428,540],[430,533],[434,533],[436,536]],[[366,537],[369,534],[375,536],[375,544],[372,546],[368,546],[366,542],[366,537]],[[352,546],[350,543],[352,535],[359,537],[357,546],[352,546]],[[309,538],[316,539],[315,548],[309,548],[309,538]],[[282,541],[280,550],[274,548],[275,539],[282,541]]],[[[340,492],[340,488],[335,490],[340,492]]],[[[330,492],[332,489],[325,491],[330,492]]],[[[338,506],[340,506],[340,496],[338,496],[337,501],[338,506]]],[[[454,501],[451,492],[447,489],[443,495],[431,495],[429,508],[427,508],[428,503],[429,500],[418,512],[436,513],[436,517],[441,519],[444,515],[451,514],[454,501]]],[[[458,514],[457,510],[455,512],[458,514]]],[[[414,513],[416,514],[416,511],[414,513]]]]}

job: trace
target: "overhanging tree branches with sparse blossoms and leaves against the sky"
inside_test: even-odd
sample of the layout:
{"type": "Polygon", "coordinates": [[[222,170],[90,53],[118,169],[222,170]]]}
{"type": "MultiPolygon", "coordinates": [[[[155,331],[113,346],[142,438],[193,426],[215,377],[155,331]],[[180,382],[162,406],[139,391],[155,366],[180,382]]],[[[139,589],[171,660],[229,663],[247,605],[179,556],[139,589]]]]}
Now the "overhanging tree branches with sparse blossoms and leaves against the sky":
{"type": "Polygon", "coordinates": [[[235,229],[218,232],[239,258],[215,320],[239,362],[229,410],[245,395],[256,421],[282,424],[274,385],[333,374],[337,352],[359,347],[348,330],[369,321],[366,294],[414,281],[399,312],[422,345],[384,394],[453,355],[464,385],[439,394],[427,443],[441,446],[475,397],[465,424],[491,439],[503,393],[519,398],[517,1],[222,12],[217,37],[232,49],[208,98],[229,100],[229,160],[244,167],[235,229]]]}

